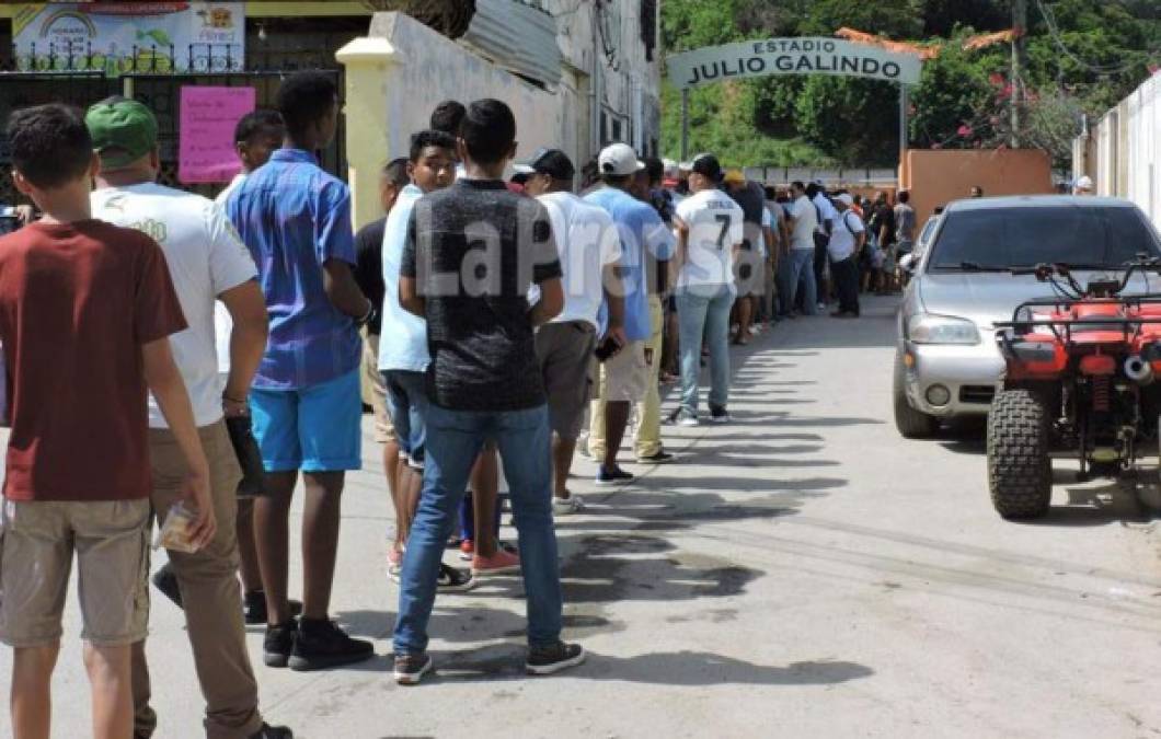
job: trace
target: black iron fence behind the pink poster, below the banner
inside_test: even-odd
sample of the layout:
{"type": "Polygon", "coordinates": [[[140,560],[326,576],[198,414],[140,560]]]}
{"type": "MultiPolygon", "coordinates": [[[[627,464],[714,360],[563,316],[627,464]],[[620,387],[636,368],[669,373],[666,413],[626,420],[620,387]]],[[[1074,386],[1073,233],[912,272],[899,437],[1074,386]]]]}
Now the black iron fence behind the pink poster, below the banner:
{"type": "MultiPolygon", "coordinates": [[[[110,60],[92,49],[29,50],[12,57],[0,66],[0,203],[17,202],[8,176],[10,154],[3,128],[13,110],[50,102],[87,108],[109,95],[124,95],[149,106],[158,119],[158,145],[164,184],[212,196],[222,184],[182,184],[178,182],[178,140],[180,136],[181,88],[253,87],[259,108],[274,107],[281,80],[298,70],[322,68],[333,74],[342,94],[342,68],[334,63],[333,51],[322,49],[280,50],[260,58],[269,67],[241,70],[240,60],[229,46],[192,44],[135,48],[132,56],[110,60]],[[327,64],[330,59],[330,64],[327,64]]],[[[248,57],[248,55],[247,55],[248,57]]],[[[334,142],[320,152],[322,166],[339,177],[346,176],[345,121],[340,116],[334,142]]]]}

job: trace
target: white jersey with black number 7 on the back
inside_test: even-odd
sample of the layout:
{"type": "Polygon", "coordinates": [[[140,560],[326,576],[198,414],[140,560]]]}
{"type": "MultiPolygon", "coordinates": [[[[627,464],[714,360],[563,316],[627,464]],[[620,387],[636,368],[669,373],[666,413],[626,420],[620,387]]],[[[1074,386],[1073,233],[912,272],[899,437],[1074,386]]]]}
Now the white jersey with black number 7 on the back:
{"type": "Polygon", "coordinates": [[[734,284],[734,247],[745,239],[745,215],[721,190],[701,190],[682,201],[677,217],[690,226],[678,288],[734,284]]]}

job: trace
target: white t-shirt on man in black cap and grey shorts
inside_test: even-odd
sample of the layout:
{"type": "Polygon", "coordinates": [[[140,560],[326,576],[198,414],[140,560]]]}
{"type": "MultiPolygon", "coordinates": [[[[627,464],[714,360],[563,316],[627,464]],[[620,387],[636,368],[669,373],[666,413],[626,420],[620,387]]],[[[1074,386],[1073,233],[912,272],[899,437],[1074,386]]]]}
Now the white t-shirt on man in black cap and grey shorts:
{"type": "Polygon", "coordinates": [[[605,209],[572,193],[548,193],[536,200],[548,210],[564,273],[564,310],[553,323],[586,321],[599,331],[597,312],[605,297],[601,275],[621,259],[616,226],[605,209]]]}

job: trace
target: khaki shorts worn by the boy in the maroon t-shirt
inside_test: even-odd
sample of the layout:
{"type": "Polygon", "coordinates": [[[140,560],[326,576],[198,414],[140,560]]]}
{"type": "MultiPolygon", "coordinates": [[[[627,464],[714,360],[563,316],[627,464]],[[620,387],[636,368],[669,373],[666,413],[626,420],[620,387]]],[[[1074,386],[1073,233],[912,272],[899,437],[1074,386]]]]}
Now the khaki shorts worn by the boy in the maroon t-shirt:
{"type": "Polygon", "coordinates": [[[0,640],[14,647],[60,640],[77,553],[81,638],[121,646],[149,624],[150,501],[15,501],[0,513],[0,640]]]}

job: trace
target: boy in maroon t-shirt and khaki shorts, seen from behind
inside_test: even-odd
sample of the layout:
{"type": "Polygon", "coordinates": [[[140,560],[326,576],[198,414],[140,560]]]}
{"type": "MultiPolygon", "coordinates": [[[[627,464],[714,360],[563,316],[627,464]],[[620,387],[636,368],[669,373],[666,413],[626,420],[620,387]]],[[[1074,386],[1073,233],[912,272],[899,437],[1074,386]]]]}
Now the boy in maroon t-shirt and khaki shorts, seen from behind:
{"type": "MultiPolygon", "coordinates": [[[[10,400],[0,516],[0,640],[14,647],[12,724],[50,734],[50,682],[75,552],[93,736],[132,732],[130,645],[145,637],[150,462],[146,390],[189,469],[188,539],[214,536],[205,456],[170,353],[186,328],[149,237],[94,220],[98,159],[64,106],[14,113],[13,180],[44,218],[0,238],[0,342],[10,400]]],[[[159,512],[165,515],[165,512],[159,512]]]]}

